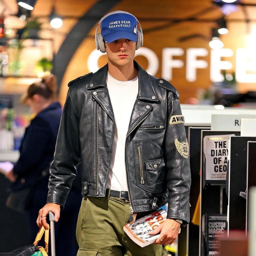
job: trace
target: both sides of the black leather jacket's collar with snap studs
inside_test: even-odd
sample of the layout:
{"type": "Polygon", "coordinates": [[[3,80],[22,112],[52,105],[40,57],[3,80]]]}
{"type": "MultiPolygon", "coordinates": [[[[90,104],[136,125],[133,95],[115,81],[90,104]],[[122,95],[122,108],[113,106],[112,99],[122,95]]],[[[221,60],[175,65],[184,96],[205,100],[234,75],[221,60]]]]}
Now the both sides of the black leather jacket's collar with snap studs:
{"type": "MultiPolygon", "coordinates": [[[[150,75],[142,69],[139,64],[134,60],[134,67],[138,70],[139,79],[139,93],[138,100],[147,100],[156,102],[159,101],[150,75]]],[[[95,90],[98,88],[106,87],[106,77],[108,76],[108,64],[94,73],[90,83],[86,86],[88,90],[95,90]]]]}

